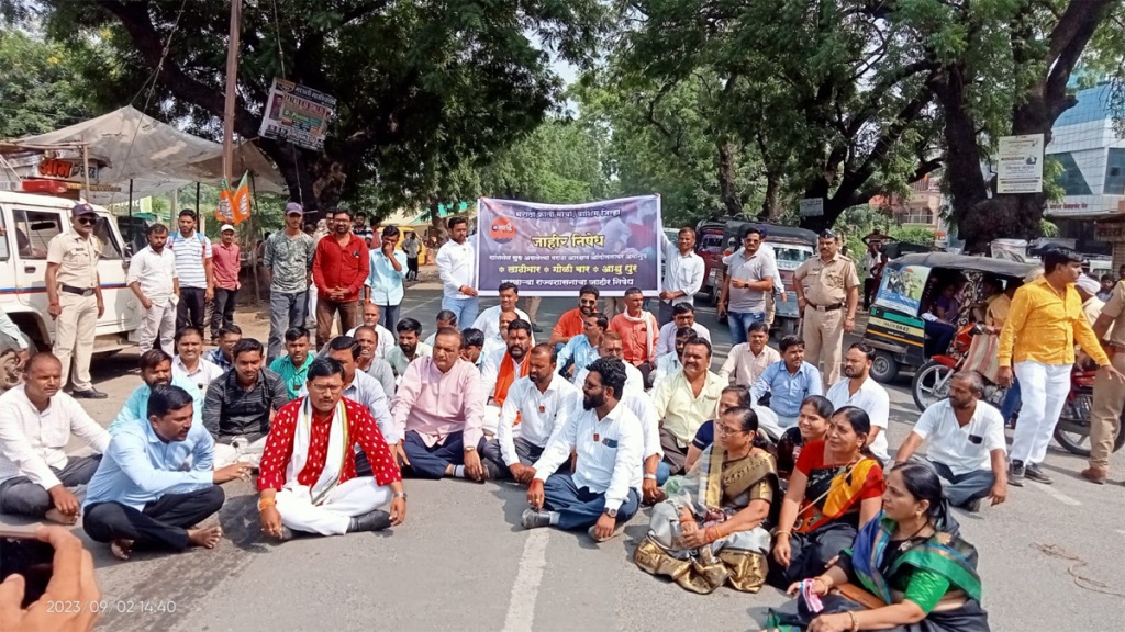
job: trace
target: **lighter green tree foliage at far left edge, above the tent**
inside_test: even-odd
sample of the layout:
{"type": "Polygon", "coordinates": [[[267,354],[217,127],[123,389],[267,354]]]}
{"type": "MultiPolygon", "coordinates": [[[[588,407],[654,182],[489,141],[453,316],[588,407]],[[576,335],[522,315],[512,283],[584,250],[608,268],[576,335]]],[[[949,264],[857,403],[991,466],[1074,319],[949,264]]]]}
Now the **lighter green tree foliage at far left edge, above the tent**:
{"type": "Polygon", "coordinates": [[[78,67],[98,51],[71,51],[19,29],[0,30],[0,138],[44,134],[96,115],[78,67]]]}

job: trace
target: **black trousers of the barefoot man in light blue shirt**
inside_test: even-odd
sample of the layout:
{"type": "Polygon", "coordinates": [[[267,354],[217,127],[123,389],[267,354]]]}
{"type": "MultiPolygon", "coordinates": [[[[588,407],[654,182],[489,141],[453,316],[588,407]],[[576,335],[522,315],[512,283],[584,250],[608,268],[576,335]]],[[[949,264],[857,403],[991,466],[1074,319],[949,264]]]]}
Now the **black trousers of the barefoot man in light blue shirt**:
{"type": "Polygon", "coordinates": [[[187,527],[218,512],[226,500],[219,486],[188,494],[165,494],[145,505],[143,512],[120,503],[94,503],[86,508],[82,527],[98,542],[132,540],[135,549],[183,551],[187,527]]]}

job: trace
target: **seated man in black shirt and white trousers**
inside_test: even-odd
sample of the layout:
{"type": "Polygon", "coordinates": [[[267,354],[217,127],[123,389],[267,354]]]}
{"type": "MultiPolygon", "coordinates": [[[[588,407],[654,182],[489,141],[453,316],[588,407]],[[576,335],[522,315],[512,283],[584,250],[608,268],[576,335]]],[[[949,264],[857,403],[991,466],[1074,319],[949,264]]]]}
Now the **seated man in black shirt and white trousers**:
{"type": "Polygon", "coordinates": [[[281,378],[262,368],[262,343],[242,338],[233,355],[234,369],[207,387],[204,426],[215,439],[216,466],[241,460],[258,467],[270,422],[289,395],[281,378]]]}

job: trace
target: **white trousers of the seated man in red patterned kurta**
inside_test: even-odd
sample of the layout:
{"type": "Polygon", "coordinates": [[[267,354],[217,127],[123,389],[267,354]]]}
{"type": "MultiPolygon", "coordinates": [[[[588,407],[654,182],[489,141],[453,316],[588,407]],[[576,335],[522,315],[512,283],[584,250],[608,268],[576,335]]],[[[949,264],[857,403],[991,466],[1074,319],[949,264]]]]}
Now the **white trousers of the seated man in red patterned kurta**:
{"type": "Polygon", "coordinates": [[[308,487],[286,487],[277,494],[277,508],[281,524],[294,531],[343,535],[352,516],[386,506],[392,496],[389,487],[379,486],[374,477],[367,476],[338,485],[320,505],[313,504],[308,487]]]}

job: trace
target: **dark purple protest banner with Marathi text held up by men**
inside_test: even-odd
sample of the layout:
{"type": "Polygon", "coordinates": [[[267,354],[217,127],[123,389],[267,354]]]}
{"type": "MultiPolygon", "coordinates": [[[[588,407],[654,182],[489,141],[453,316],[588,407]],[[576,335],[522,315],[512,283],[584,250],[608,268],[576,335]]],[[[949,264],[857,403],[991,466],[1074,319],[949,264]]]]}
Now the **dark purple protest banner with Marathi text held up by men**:
{"type": "Polygon", "coordinates": [[[477,289],[496,296],[504,281],[520,296],[602,296],[636,287],[660,294],[660,197],[583,205],[480,198],[477,202],[477,289]]]}

